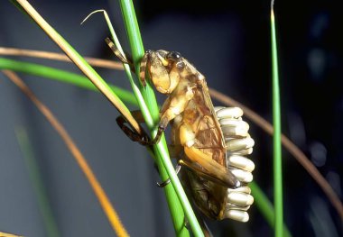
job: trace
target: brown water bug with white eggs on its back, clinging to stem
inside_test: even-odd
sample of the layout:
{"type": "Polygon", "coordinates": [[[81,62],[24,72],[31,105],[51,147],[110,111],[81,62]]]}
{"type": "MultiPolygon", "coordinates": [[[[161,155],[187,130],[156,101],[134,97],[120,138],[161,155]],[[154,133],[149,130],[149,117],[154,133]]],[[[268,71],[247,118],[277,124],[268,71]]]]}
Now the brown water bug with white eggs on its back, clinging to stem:
{"type": "MultiPolygon", "coordinates": [[[[107,44],[119,59],[130,63],[109,39],[107,44]]],[[[219,123],[205,77],[179,52],[147,50],[139,75],[144,86],[147,75],[157,91],[168,95],[160,111],[156,137],[151,141],[140,137],[128,129],[123,120],[117,120],[119,126],[133,141],[149,145],[159,141],[170,123],[172,144],[169,149],[186,168],[181,169],[181,181],[195,205],[212,219],[246,222],[246,210],[254,201],[246,183],[252,179],[250,172],[254,163],[241,155],[251,152],[254,141],[240,118],[243,112],[239,108],[217,108],[225,122],[219,123]],[[228,152],[233,156],[231,160],[228,152]]]]}

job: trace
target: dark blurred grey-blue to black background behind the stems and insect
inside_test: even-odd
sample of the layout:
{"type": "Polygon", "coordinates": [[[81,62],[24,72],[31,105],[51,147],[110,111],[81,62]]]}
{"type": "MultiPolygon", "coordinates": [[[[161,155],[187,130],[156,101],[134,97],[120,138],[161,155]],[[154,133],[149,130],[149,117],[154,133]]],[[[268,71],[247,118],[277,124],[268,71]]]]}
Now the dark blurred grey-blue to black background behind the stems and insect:
{"type": "MultiPolygon", "coordinates": [[[[114,59],[107,25],[91,11],[107,9],[128,49],[117,1],[30,1],[84,56],[114,59]]],[[[343,36],[338,1],[276,1],[283,132],[320,169],[342,199],[343,36]]],[[[178,50],[208,79],[271,121],[268,1],[134,1],[145,49],[178,50]]],[[[60,52],[14,5],[0,3],[0,47],[60,52]]],[[[18,58],[15,58],[18,59],[18,58]]],[[[24,59],[56,68],[67,63],[24,59]]],[[[98,69],[129,89],[122,72],[98,69]]],[[[173,236],[153,160],[116,126],[116,109],[97,93],[21,75],[77,141],[133,236],[173,236]],[[144,155],[143,155],[144,154],[144,155]]],[[[159,96],[162,103],[163,96],[159,96]]],[[[218,103],[215,103],[219,105],[218,103]]],[[[0,231],[47,236],[14,129],[28,131],[61,236],[113,236],[105,214],[60,137],[36,107],[0,74],[0,231]]],[[[249,121],[248,121],[249,122],[249,121]]],[[[250,123],[250,122],[249,122],[250,123]]],[[[250,123],[255,181],[273,200],[272,140],[250,123]]],[[[341,220],[309,174],[284,150],[284,218],[293,236],[342,236],[341,220]]],[[[272,236],[256,207],[249,223],[211,222],[215,236],[272,236]]]]}

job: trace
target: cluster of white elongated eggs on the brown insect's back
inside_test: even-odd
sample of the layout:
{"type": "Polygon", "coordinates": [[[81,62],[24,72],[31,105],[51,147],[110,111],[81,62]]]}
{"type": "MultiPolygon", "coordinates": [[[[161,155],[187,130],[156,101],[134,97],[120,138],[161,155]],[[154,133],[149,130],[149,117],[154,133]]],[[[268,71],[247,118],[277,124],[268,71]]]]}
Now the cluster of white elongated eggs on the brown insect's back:
{"type": "Polygon", "coordinates": [[[248,183],[253,181],[255,164],[246,158],[253,152],[255,141],[250,137],[249,125],[242,120],[243,111],[238,107],[215,107],[218,121],[227,144],[227,169],[240,182],[240,187],[227,188],[225,217],[239,222],[247,222],[247,210],[254,203],[248,183]]]}

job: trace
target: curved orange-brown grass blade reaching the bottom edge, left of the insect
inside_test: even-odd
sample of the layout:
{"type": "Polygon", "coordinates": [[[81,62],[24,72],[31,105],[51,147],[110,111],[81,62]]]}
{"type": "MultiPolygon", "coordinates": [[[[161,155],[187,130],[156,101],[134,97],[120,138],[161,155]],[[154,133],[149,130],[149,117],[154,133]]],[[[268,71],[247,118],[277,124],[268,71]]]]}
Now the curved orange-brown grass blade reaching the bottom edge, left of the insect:
{"type": "Polygon", "coordinates": [[[99,201],[105,214],[107,214],[108,221],[112,225],[116,234],[123,237],[129,236],[125,230],[125,227],[121,223],[118,214],[116,214],[115,208],[111,205],[104,189],[97,181],[97,178],[94,175],[92,169],[90,169],[90,167],[88,166],[88,163],[83,157],[78,146],[71,139],[69,133],[64,129],[63,125],[54,116],[54,114],[51,113],[51,110],[33,94],[32,90],[24,84],[23,80],[20,77],[18,77],[13,71],[10,70],[3,70],[3,73],[23,91],[23,94],[25,94],[32,100],[33,104],[37,106],[37,108],[46,117],[49,123],[51,123],[51,126],[56,130],[56,132],[60,134],[61,139],[65,142],[71,154],[78,162],[80,169],[84,172],[86,178],[88,179],[90,186],[93,188],[94,193],[97,196],[97,200],[99,201]]]}

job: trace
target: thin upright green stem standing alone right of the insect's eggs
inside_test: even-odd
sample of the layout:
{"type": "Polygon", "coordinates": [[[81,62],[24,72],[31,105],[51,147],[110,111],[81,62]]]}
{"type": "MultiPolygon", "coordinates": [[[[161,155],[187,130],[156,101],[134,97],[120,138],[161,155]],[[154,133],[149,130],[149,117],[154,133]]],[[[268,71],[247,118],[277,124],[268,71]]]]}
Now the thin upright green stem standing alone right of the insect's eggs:
{"type": "Polygon", "coordinates": [[[272,32],[272,64],[273,64],[273,186],[275,205],[275,229],[274,235],[283,236],[283,164],[281,143],[281,112],[280,112],[280,88],[279,71],[277,61],[275,21],[273,15],[273,2],[271,9],[271,32],[272,32]]]}

